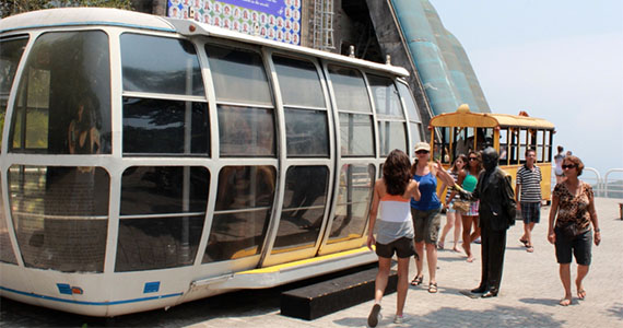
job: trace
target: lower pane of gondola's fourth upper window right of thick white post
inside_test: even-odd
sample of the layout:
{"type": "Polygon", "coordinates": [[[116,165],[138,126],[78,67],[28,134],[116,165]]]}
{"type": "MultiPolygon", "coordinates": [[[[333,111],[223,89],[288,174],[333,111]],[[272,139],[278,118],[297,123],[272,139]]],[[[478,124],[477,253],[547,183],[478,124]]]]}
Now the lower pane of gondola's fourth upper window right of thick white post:
{"type": "Polygon", "coordinates": [[[374,156],[372,116],[340,114],[342,156],[374,156]]]}

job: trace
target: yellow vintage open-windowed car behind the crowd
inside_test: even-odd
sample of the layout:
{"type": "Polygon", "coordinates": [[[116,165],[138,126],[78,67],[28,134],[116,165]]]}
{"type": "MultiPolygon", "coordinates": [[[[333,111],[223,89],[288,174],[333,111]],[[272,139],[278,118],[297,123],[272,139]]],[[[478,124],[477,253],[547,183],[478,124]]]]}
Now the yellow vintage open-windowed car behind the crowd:
{"type": "Polygon", "coordinates": [[[549,201],[552,175],[554,125],[545,119],[520,115],[471,113],[467,105],[457,112],[431,119],[431,147],[435,159],[450,165],[455,156],[493,147],[499,153],[499,166],[513,176],[526,163],[526,150],[537,152],[536,165],[541,168],[541,195],[549,201]]]}

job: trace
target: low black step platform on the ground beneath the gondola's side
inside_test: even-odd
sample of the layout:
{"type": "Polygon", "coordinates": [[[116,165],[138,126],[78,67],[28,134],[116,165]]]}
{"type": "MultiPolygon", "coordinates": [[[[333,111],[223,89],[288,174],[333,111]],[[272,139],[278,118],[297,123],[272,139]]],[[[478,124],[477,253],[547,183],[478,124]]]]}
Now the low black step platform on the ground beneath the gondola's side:
{"type": "MultiPolygon", "coordinates": [[[[313,320],[330,313],[374,300],[378,268],[318,282],[281,293],[281,314],[313,320]]],[[[398,273],[389,272],[385,294],[395,293],[398,273]]]]}

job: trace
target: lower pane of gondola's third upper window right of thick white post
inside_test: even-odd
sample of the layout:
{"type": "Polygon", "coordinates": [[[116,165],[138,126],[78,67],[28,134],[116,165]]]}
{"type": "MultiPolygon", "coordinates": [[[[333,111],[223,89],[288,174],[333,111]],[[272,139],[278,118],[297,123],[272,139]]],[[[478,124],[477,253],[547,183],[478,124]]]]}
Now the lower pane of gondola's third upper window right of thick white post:
{"type": "Polygon", "coordinates": [[[287,156],[329,156],[327,112],[285,109],[287,156]]]}

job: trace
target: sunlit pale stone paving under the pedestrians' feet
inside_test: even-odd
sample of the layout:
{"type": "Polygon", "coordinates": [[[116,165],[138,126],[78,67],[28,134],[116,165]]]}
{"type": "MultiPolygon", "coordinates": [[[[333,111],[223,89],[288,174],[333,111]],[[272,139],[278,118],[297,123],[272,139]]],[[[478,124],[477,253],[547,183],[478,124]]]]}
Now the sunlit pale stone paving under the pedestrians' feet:
{"type": "MultiPolygon", "coordinates": [[[[602,231],[602,243],[592,248],[590,272],[585,279],[585,301],[575,298],[567,307],[559,305],[563,288],[559,279],[559,265],[554,246],[546,241],[549,207],[541,211],[541,223],[534,227],[534,253],[526,251],[519,243],[524,224],[508,231],[504,277],[501,293],[495,298],[469,298],[460,291],[475,288],[480,281],[480,257],[468,263],[465,256],[449,249],[439,251],[437,281],[439,292],[426,291],[424,285],[410,288],[402,325],[392,324],[396,312],[396,293],[383,300],[384,318],[379,327],[623,327],[623,221],[620,220],[621,199],[599,198],[597,211],[602,231]]],[[[444,219],[445,221],[445,219],[444,219]]],[[[445,222],[444,222],[445,223],[445,222]]],[[[451,233],[446,248],[451,247],[451,233]]],[[[480,255],[480,246],[473,246],[480,255]]],[[[572,279],[576,277],[572,265],[572,279]]],[[[414,265],[411,266],[414,277],[414,265]]],[[[573,281],[572,280],[572,281],[573,281]]],[[[258,313],[227,313],[188,327],[364,327],[373,302],[366,302],[316,320],[281,316],[279,308],[258,313]]]]}

